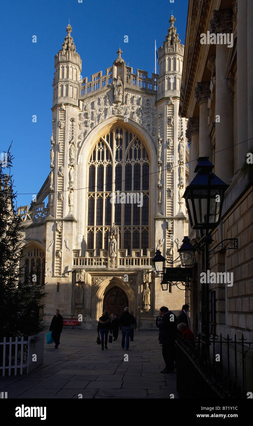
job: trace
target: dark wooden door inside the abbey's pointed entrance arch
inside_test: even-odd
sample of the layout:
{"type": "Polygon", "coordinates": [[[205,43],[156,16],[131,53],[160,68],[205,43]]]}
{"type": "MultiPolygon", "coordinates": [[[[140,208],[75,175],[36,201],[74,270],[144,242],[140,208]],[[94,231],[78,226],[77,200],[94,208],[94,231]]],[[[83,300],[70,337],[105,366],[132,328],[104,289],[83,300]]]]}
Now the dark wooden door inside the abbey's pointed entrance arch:
{"type": "Polygon", "coordinates": [[[126,306],[129,306],[129,303],[124,290],[115,285],[107,291],[104,296],[103,311],[108,311],[109,316],[113,314],[121,315],[126,306]]]}

